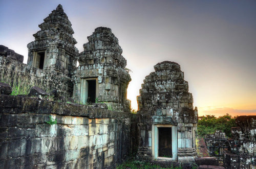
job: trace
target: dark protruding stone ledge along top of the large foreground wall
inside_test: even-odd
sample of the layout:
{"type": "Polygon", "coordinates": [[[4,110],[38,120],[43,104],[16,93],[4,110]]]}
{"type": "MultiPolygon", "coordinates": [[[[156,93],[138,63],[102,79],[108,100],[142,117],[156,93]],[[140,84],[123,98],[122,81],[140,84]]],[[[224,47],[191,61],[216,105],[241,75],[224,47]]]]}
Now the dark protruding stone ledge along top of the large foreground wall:
{"type": "Polygon", "coordinates": [[[131,113],[103,110],[81,104],[38,100],[28,96],[0,94],[0,114],[36,113],[81,116],[89,118],[131,118],[131,113]]]}

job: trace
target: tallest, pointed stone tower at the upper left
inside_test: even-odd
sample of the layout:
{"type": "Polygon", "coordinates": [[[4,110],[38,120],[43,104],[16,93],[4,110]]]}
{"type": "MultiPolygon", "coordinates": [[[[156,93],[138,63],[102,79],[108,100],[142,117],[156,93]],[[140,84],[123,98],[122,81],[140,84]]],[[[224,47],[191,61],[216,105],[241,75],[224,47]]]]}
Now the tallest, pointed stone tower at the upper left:
{"type": "Polygon", "coordinates": [[[41,30],[33,35],[35,41],[27,45],[28,64],[40,69],[55,70],[71,77],[71,71],[77,62],[75,56],[78,55],[74,46],[77,42],[73,38],[74,31],[71,26],[62,6],[58,5],[39,25],[41,30]]]}

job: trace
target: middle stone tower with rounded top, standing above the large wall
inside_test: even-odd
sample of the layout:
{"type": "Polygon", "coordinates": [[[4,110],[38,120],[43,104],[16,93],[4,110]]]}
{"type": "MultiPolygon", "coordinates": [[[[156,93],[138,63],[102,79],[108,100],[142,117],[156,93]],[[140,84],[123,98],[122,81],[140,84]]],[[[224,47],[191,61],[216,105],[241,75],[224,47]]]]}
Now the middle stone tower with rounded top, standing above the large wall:
{"type": "Polygon", "coordinates": [[[118,39],[111,29],[99,27],[83,44],[84,51],[78,56],[79,66],[74,71],[73,96],[87,104],[108,103],[110,109],[130,111],[126,90],[131,77],[125,68],[126,60],[118,39]]]}

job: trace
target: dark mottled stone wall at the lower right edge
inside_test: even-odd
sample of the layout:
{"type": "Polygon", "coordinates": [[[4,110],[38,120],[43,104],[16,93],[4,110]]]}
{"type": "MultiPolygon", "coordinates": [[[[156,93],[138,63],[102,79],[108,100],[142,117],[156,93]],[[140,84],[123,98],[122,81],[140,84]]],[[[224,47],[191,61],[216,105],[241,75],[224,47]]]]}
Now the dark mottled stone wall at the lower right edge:
{"type": "Polygon", "coordinates": [[[227,168],[256,166],[256,116],[238,116],[238,127],[231,128],[229,149],[224,151],[223,165],[227,168]]]}

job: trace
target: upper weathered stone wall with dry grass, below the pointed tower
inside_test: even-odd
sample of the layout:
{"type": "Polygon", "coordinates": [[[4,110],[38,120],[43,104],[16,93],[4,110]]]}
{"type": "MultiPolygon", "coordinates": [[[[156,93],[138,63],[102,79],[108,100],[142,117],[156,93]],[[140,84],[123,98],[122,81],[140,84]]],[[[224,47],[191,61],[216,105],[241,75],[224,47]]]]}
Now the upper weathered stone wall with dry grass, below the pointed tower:
{"type": "Polygon", "coordinates": [[[23,94],[28,94],[33,86],[40,87],[47,92],[57,89],[60,95],[71,97],[73,83],[67,76],[51,70],[42,70],[22,62],[0,56],[0,81],[16,87],[23,94]]]}

